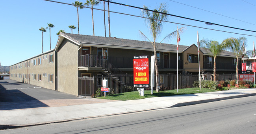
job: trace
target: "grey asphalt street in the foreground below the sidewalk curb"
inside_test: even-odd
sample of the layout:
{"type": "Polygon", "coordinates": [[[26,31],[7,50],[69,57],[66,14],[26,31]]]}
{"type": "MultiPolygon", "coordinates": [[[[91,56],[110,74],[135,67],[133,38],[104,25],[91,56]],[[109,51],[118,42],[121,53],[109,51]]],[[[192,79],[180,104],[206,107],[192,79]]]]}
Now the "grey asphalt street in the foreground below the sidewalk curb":
{"type": "Polygon", "coordinates": [[[256,97],[0,130],[1,134],[255,134],[256,97]]]}

